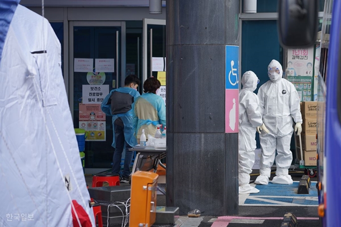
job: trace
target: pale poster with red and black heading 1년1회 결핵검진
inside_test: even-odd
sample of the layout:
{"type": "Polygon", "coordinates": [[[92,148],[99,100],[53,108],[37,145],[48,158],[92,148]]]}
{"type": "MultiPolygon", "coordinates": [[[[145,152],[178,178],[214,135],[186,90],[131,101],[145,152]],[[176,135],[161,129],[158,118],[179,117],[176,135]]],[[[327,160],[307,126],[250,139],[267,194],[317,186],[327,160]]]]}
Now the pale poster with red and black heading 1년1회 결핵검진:
{"type": "Polygon", "coordinates": [[[314,48],[288,49],[287,76],[313,76],[314,48]]]}

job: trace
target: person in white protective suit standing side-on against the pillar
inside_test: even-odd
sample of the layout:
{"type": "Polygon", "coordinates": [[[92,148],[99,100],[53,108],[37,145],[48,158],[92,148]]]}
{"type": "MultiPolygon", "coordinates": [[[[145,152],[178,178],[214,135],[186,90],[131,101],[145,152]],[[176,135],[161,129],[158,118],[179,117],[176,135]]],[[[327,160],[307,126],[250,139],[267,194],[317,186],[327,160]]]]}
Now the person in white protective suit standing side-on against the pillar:
{"type": "Polygon", "coordinates": [[[255,163],[256,127],[265,128],[259,112],[259,99],[254,92],[259,83],[252,71],[242,77],[243,89],[239,92],[239,194],[258,193],[259,190],[250,185],[250,173],[255,163]]]}

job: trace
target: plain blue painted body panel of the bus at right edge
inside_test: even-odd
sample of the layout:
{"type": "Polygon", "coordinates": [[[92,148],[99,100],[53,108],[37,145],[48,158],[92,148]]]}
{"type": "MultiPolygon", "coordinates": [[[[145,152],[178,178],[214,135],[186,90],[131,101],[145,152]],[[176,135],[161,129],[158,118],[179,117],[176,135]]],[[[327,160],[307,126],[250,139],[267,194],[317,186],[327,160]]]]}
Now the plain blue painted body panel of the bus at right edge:
{"type": "Polygon", "coordinates": [[[326,224],[341,226],[341,124],[337,113],[340,62],[341,1],[333,1],[330,44],[327,62],[325,115],[326,224]]]}

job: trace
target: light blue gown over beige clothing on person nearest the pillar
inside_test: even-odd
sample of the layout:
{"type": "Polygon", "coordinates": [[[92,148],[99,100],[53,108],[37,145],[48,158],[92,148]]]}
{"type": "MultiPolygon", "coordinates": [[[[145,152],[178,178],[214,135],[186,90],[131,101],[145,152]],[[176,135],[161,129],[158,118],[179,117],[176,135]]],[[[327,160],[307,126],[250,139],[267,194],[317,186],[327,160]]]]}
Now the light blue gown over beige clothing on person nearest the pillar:
{"type": "Polygon", "coordinates": [[[147,135],[154,136],[156,125],[166,126],[166,114],[163,99],[152,93],[144,93],[133,103],[133,117],[135,119],[135,136],[140,138],[142,129],[147,135]]]}

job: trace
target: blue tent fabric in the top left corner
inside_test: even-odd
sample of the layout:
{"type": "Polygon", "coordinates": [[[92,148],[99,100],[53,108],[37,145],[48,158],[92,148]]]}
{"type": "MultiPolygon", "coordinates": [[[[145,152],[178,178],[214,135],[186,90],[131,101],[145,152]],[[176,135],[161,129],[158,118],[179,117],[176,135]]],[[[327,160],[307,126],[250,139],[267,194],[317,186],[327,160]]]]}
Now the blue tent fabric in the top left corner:
{"type": "Polygon", "coordinates": [[[1,0],[0,2],[0,62],[6,35],[19,2],[20,0],[1,0]]]}

